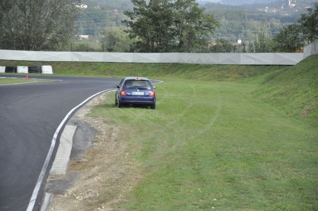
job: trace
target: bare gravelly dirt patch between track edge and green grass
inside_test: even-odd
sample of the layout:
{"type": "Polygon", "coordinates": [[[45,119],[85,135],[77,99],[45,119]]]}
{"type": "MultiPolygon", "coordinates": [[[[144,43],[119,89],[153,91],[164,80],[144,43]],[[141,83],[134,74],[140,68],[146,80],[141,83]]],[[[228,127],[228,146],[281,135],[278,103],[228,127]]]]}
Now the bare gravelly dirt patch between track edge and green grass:
{"type": "Polygon", "coordinates": [[[120,210],[116,204],[127,200],[126,194],[141,178],[138,164],[131,156],[132,146],[121,139],[124,130],[86,116],[95,105],[105,101],[105,94],[92,99],[74,115],[95,128],[97,134],[82,159],[70,160],[64,177],[79,177],[70,188],[54,194],[51,211],[120,210]]]}

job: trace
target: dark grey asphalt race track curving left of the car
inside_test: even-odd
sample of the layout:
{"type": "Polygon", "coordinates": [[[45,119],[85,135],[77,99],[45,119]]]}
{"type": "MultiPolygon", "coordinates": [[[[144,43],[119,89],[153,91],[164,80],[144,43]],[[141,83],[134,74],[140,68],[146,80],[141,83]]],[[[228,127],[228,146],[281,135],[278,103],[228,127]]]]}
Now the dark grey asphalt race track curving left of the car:
{"type": "MultiPolygon", "coordinates": [[[[53,135],[64,117],[89,96],[121,80],[48,75],[29,78],[63,81],[0,86],[0,211],[26,211],[53,135]]],[[[43,187],[34,211],[39,210],[42,196],[43,187]]]]}

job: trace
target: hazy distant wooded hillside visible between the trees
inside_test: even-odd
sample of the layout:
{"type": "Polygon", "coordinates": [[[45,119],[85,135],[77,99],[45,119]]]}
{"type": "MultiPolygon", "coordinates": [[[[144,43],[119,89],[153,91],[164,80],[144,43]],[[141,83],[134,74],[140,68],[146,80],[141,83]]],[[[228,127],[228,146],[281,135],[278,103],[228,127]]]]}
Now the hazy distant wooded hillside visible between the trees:
{"type": "MultiPolygon", "coordinates": [[[[90,35],[90,39],[100,39],[107,28],[125,26],[122,22],[127,18],[124,11],[133,9],[131,0],[81,1],[88,7],[80,10],[78,33],[90,35]]],[[[306,13],[307,5],[313,8],[317,2],[296,1],[296,5],[290,7],[288,0],[222,0],[222,3],[221,0],[197,0],[199,7],[205,8],[205,13],[213,14],[220,23],[211,41],[223,38],[233,43],[239,39],[248,43],[263,32],[267,37],[275,36],[283,26],[294,23],[301,13],[306,13]]]]}

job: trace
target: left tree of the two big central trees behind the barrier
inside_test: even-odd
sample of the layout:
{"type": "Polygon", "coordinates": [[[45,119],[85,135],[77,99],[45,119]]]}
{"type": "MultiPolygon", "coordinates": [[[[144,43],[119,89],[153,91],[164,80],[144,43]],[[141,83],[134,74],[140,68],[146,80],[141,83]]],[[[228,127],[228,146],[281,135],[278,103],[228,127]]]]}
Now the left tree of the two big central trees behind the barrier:
{"type": "Polygon", "coordinates": [[[171,0],[132,0],[134,11],[125,14],[130,38],[140,52],[168,52],[173,37],[171,0]]]}

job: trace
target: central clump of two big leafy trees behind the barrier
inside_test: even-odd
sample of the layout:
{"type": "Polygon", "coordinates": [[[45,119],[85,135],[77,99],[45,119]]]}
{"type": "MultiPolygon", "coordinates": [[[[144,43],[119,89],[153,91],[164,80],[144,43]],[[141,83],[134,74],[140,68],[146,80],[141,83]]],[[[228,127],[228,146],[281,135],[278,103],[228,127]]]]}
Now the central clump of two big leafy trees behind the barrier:
{"type": "Polygon", "coordinates": [[[132,0],[126,11],[129,36],[140,52],[193,52],[206,45],[217,21],[195,0],[132,0]]]}

